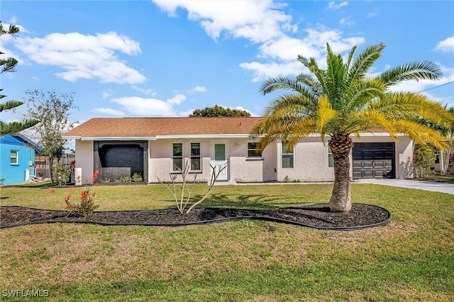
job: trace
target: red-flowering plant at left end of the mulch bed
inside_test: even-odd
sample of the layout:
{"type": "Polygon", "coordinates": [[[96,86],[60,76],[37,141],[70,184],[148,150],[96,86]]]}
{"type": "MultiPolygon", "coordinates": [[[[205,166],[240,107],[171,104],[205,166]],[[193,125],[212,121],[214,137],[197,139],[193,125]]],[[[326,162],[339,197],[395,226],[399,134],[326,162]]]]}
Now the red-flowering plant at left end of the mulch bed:
{"type": "MultiPolygon", "coordinates": [[[[96,181],[96,178],[98,178],[98,174],[99,171],[96,170],[92,177],[93,181],[96,181]]],[[[97,184],[95,184],[95,186],[97,186],[97,184]]],[[[99,208],[99,204],[94,204],[93,198],[94,196],[96,196],[96,192],[92,193],[90,191],[91,188],[92,185],[87,184],[84,187],[84,190],[80,192],[80,203],[72,202],[72,195],[68,195],[65,197],[66,210],[70,213],[70,215],[87,217],[92,215],[96,208],[99,208]]]]}

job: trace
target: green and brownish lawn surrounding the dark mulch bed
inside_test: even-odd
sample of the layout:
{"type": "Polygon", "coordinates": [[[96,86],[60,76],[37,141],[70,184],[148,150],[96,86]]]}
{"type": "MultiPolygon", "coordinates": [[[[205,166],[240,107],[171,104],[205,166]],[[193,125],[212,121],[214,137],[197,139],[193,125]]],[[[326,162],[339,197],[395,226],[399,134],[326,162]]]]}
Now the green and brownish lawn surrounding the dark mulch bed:
{"type": "MultiPolygon", "coordinates": [[[[175,207],[162,186],[94,189],[99,210],[175,207]]],[[[194,194],[204,189],[196,186],[194,194]]],[[[202,206],[326,202],[331,189],[216,186],[202,206]]],[[[1,205],[63,209],[62,197],[80,191],[55,190],[7,186],[1,205]]],[[[256,220],[0,230],[0,292],[48,290],[46,301],[451,301],[453,195],[372,184],[353,184],[352,191],[353,202],[391,211],[392,223],[353,232],[256,220]]]]}

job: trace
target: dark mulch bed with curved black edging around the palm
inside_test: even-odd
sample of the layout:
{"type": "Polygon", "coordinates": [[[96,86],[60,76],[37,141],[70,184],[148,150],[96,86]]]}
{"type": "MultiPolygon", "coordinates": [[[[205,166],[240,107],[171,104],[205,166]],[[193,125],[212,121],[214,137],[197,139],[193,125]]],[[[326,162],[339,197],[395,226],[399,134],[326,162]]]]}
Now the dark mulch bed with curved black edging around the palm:
{"type": "Polygon", "coordinates": [[[355,230],[386,225],[391,214],[384,208],[353,203],[349,213],[331,213],[328,203],[272,209],[194,208],[182,215],[176,208],[137,211],[99,211],[89,217],[68,216],[66,211],[21,206],[0,206],[0,228],[33,223],[96,223],[101,225],[179,226],[256,219],[309,228],[355,230]]]}

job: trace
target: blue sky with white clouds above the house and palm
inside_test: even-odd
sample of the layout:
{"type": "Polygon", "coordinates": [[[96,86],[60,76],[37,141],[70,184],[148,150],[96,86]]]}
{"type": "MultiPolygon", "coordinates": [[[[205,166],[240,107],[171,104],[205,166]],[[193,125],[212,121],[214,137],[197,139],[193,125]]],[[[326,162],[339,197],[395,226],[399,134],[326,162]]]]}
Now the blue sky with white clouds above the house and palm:
{"type": "MultiPolygon", "coordinates": [[[[260,116],[276,96],[262,96],[260,84],[307,72],[297,55],[324,66],[327,42],[343,55],[385,43],[373,73],[437,62],[442,79],[397,89],[430,89],[454,106],[454,1],[2,0],[0,9],[4,24],[21,28],[0,39],[4,57],[20,62],[1,74],[2,101],[28,89],[74,91],[79,123],[187,116],[214,104],[260,116]]],[[[23,108],[1,118],[18,119],[23,108]]]]}

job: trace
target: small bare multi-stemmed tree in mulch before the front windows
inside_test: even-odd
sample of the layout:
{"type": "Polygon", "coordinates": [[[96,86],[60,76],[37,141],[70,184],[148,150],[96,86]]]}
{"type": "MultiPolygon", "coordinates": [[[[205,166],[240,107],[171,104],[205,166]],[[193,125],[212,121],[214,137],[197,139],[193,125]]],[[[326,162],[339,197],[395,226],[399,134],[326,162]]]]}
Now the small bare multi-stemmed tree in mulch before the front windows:
{"type": "Polygon", "coordinates": [[[175,167],[177,168],[178,173],[182,175],[182,184],[181,184],[181,186],[179,186],[179,189],[177,188],[177,184],[175,184],[175,179],[177,179],[177,174],[175,172],[169,173],[170,179],[172,180],[172,186],[170,186],[170,184],[163,183],[159,179],[159,177],[157,177],[157,180],[159,180],[159,182],[163,186],[165,186],[167,188],[167,190],[170,191],[170,194],[172,194],[173,198],[175,198],[175,203],[177,203],[177,208],[178,208],[179,213],[182,213],[182,214],[184,214],[184,213],[188,214],[190,211],[192,211],[192,209],[195,206],[197,206],[199,203],[204,201],[206,199],[206,197],[208,197],[208,195],[211,192],[211,189],[213,189],[214,182],[216,181],[216,179],[218,179],[219,174],[221,174],[223,169],[226,169],[226,167],[223,167],[222,169],[219,169],[218,172],[216,172],[216,167],[214,167],[213,165],[210,164],[211,179],[208,183],[208,191],[206,191],[206,194],[202,198],[200,198],[199,201],[196,201],[195,203],[193,203],[192,206],[190,206],[187,209],[187,211],[185,212],[189,201],[191,201],[191,194],[192,194],[192,190],[194,189],[194,185],[196,184],[197,174],[194,174],[194,179],[193,179],[192,183],[188,184],[187,183],[187,174],[189,173],[189,162],[186,162],[186,164],[184,164],[184,169],[181,169],[176,164],[175,164],[175,167]],[[187,193],[187,196],[185,196],[185,193],[187,193]]]}

